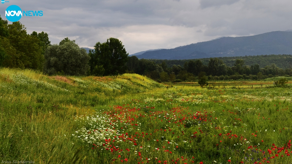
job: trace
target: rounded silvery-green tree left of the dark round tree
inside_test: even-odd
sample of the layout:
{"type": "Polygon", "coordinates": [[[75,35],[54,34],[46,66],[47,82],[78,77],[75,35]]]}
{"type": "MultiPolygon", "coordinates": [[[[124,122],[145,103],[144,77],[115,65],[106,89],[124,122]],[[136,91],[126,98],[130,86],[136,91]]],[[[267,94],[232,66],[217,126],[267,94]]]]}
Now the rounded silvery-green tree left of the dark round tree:
{"type": "Polygon", "coordinates": [[[44,72],[52,75],[61,72],[66,75],[86,75],[90,57],[73,41],[52,45],[46,49],[44,72]]]}

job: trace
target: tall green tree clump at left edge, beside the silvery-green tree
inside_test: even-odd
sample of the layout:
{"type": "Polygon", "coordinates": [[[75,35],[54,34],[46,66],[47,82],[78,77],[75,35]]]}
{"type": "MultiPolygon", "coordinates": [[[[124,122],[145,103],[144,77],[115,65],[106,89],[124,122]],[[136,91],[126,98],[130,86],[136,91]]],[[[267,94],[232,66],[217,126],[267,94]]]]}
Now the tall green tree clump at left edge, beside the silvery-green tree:
{"type": "Polygon", "coordinates": [[[0,66],[42,70],[48,44],[46,33],[28,35],[20,22],[8,24],[0,17],[0,66]]]}

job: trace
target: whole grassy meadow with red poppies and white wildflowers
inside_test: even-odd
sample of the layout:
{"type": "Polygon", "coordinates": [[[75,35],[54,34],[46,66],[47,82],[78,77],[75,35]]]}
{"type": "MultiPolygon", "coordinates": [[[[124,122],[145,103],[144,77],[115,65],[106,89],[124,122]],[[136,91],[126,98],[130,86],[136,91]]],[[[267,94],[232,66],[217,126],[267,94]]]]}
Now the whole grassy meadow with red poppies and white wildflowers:
{"type": "Polygon", "coordinates": [[[292,163],[291,84],[213,83],[2,68],[0,163],[292,163]]]}

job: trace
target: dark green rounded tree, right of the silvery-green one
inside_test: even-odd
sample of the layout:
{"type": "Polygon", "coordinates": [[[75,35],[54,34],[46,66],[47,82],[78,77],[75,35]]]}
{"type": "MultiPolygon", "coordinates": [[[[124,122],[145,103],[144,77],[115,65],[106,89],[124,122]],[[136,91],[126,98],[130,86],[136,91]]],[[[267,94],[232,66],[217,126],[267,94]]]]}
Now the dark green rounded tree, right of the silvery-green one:
{"type": "MultiPolygon", "coordinates": [[[[109,38],[106,42],[97,42],[93,51],[89,51],[91,57],[89,64],[92,68],[95,66],[104,68],[104,76],[123,74],[126,71],[128,53],[119,39],[109,38]]],[[[91,69],[91,74],[93,69],[91,69]]]]}

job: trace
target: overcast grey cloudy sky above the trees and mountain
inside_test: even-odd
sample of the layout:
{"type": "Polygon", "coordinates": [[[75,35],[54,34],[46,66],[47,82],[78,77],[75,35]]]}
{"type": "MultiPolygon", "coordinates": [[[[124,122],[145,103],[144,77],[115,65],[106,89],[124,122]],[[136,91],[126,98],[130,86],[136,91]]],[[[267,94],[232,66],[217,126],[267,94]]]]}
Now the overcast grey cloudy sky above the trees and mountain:
{"type": "Polygon", "coordinates": [[[4,20],[10,5],[43,11],[20,22],[29,34],[48,33],[51,44],[68,37],[93,48],[118,38],[129,54],[292,29],[291,0],[9,0],[0,3],[4,20]]]}

